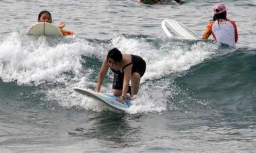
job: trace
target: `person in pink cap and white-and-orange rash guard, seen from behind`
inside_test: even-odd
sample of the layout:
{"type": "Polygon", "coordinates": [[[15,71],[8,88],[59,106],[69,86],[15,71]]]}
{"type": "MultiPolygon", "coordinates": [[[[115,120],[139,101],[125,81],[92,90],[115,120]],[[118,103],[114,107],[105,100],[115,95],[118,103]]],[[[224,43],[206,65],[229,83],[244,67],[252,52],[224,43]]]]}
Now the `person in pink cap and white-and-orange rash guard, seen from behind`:
{"type": "Polygon", "coordinates": [[[235,48],[238,41],[236,23],[233,20],[227,19],[226,16],[227,9],[223,3],[214,5],[214,17],[207,24],[202,39],[205,40],[212,34],[214,40],[235,48]]]}

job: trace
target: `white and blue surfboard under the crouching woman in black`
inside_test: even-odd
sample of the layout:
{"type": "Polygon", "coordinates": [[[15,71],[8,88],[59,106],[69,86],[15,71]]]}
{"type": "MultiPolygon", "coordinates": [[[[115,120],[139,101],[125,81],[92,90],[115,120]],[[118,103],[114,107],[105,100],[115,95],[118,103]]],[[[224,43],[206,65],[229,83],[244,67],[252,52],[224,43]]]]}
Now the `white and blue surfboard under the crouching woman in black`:
{"type": "Polygon", "coordinates": [[[86,91],[80,88],[74,88],[73,90],[77,93],[81,93],[82,95],[85,95],[86,97],[89,97],[90,99],[100,101],[101,103],[104,103],[119,111],[128,112],[128,109],[131,106],[131,103],[129,100],[125,100],[125,103],[120,103],[119,101],[116,100],[118,97],[116,97],[111,93],[95,93],[95,92],[86,91]]]}

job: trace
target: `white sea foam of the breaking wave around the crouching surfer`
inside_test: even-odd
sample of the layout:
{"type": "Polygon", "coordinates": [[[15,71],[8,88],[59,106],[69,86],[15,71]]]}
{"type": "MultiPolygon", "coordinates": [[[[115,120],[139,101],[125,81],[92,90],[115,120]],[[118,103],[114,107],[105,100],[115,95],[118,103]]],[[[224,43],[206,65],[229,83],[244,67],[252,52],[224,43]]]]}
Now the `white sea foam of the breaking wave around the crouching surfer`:
{"type": "MultiPolygon", "coordinates": [[[[102,61],[109,48],[117,47],[127,54],[137,54],[147,62],[146,72],[141,78],[141,89],[132,101],[131,113],[161,112],[166,110],[166,101],[170,96],[163,91],[171,88],[170,83],[161,79],[202,62],[214,54],[218,46],[205,42],[190,45],[186,42],[177,44],[147,39],[116,35],[110,44],[104,44],[82,38],[58,40],[41,36],[36,39],[14,32],[0,44],[0,77],[5,82],[16,81],[19,85],[61,83],[61,87],[43,91],[49,101],[59,101],[63,107],[79,106],[103,111],[105,109],[95,101],[74,93],[73,87],[93,90],[96,86],[96,77],[92,79],[91,76],[98,72],[93,67],[83,68],[82,63],[86,61],[82,56],[102,61]],[[158,48],[155,43],[164,46],[158,48]],[[72,72],[74,76],[70,77],[65,72],[72,72]]],[[[111,75],[111,72],[108,74],[111,75]]],[[[104,84],[102,91],[110,92],[111,82],[104,84]]]]}

